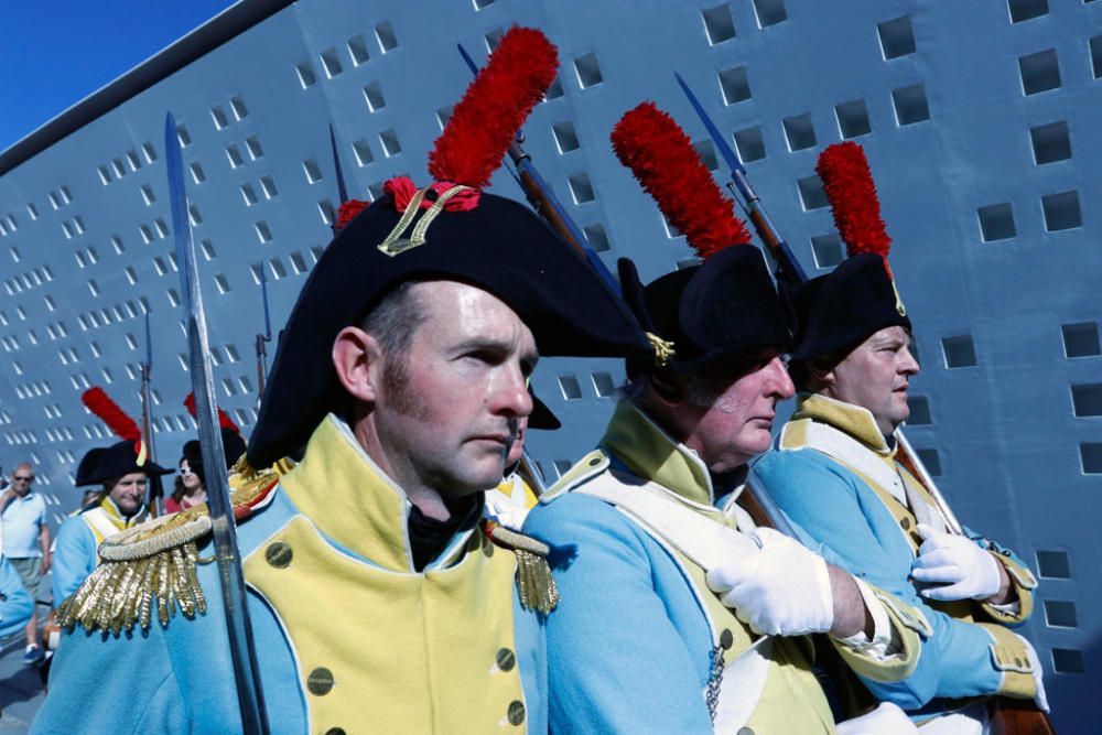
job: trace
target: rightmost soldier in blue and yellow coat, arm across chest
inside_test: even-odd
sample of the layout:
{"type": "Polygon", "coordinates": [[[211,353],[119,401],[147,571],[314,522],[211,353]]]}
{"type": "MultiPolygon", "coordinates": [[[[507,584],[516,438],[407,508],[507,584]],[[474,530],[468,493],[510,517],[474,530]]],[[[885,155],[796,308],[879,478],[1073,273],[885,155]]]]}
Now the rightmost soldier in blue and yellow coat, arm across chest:
{"type": "Polygon", "coordinates": [[[895,432],[919,365],[864,153],[831,147],[819,171],[851,257],[796,293],[797,411],[752,472],[808,547],[829,550],[932,625],[915,672],[871,683],[876,696],[916,722],[936,721],[931,732],[985,732],[993,694],[1047,711],[1037,655],[1007,627],[1033,610],[1033,573],[966,528],[950,532],[938,501],[897,458],[895,432]]]}

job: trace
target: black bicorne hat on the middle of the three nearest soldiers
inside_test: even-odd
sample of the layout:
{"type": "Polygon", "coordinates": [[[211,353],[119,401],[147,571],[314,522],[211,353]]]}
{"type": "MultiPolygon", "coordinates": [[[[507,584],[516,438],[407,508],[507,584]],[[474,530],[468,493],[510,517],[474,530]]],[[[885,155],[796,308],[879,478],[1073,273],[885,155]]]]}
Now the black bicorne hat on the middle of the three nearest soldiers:
{"type": "Polygon", "coordinates": [[[699,266],[667,273],[644,287],[635,264],[619,261],[624,298],[661,353],[666,365],[628,361],[628,374],[655,367],[691,370],[717,357],[791,344],[791,310],[778,294],[761,251],[735,245],[699,266]]]}

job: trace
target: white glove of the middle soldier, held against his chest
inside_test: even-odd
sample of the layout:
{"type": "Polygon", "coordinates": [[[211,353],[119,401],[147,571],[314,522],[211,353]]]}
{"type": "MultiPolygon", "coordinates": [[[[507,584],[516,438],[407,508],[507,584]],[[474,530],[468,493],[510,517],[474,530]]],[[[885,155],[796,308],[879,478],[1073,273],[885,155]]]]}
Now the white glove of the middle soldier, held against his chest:
{"type": "Polygon", "coordinates": [[[733,553],[709,571],[707,586],[754,633],[802,636],[834,623],[827,562],[771,528],[746,533],[756,552],[733,553]]]}

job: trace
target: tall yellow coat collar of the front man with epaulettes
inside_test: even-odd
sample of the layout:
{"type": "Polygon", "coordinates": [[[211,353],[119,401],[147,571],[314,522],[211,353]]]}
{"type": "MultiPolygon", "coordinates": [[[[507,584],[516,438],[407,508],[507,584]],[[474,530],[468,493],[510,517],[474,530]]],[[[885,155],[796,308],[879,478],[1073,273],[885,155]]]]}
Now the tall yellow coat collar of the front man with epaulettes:
{"type": "MultiPolygon", "coordinates": [[[[414,571],[406,493],[334,414],[317,425],[302,462],[280,483],[298,510],[336,544],[383,569],[414,571]]],[[[450,565],[472,532],[456,533],[426,571],[450,565]]]]}

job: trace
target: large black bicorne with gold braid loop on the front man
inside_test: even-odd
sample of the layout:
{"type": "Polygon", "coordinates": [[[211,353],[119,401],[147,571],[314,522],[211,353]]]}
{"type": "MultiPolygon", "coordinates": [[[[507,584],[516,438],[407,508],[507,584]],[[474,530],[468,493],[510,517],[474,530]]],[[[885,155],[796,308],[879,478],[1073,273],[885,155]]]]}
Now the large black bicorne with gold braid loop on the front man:
{"type": "MultiPolygon", "coordinates": [[[[413,230],[428,216],[417,214],[413,230]]],[[[252,466],[305,444],[325,414],[344,404],[333,342],[403,282],[450,280],[491,293],[528,325],[544,356],[627,357],[647,349],[623,302],[527,207],[483,192],[474,208],[435,213],[424,242],[412,246],[415,233],[391,237],[402,216],[391,195],[379,198],[314,267],[276,353],[249,442],[252,466]],[[380,248],[388,238],[391,245],[380,248]]]]}

